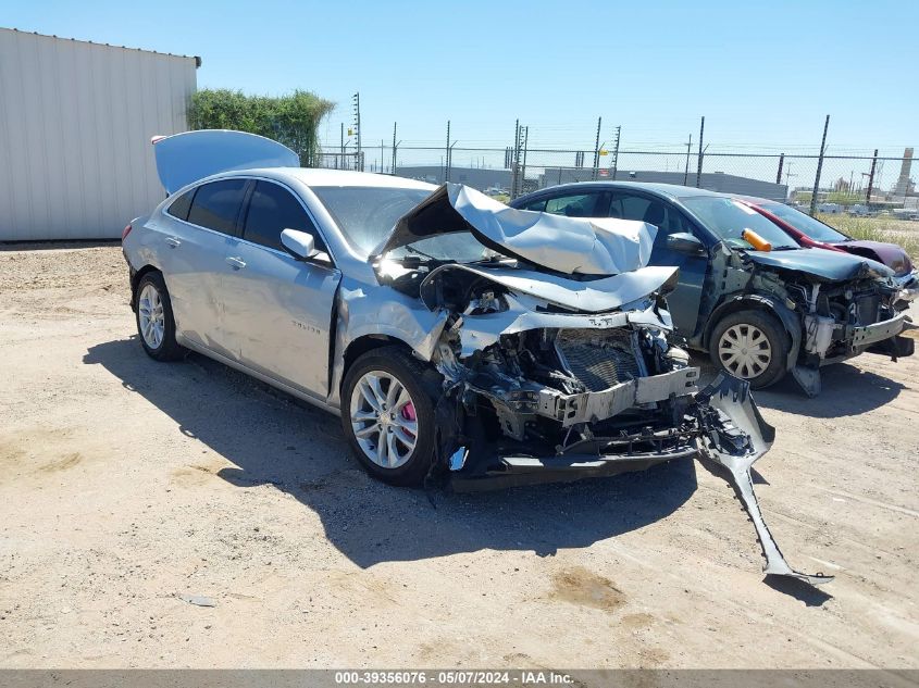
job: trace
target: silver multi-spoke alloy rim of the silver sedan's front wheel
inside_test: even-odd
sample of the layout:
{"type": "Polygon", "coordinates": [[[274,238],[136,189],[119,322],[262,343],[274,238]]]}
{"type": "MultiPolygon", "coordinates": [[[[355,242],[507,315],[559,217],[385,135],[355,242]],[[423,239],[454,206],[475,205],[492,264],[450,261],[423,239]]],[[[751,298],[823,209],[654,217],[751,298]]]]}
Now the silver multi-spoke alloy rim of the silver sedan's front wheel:
{"type": "Polygon", "coordinates": [[[414,401],[390,373],[370,371],[349,400],[351,428],[364,455],[383,468],[406,464],[418,442],[414,401]]]}

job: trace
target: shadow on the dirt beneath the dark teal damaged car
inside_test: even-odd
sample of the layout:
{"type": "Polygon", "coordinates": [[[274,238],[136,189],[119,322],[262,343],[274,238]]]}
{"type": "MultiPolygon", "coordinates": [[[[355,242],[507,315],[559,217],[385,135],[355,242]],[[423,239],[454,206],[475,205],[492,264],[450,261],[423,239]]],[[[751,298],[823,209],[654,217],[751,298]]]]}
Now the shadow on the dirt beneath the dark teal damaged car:
{"type": "MultiPolygon", "coordinates": [[[[866,353],[874,358],[875,354],[866,353]]],[[[703,384],[716,375],[707,358],[693,355],[693,365],[701,367],[703,384]]],[[[890,362],[891,365],[896,363],[890,362]]],[[[860,415],[893,401],[906,386],[849,363],[836,363],[821,368],[821,392],[809,398],[790,374],[777,385],[754,392],[757,405],[811,418],[836,418],[860,415]]]]}

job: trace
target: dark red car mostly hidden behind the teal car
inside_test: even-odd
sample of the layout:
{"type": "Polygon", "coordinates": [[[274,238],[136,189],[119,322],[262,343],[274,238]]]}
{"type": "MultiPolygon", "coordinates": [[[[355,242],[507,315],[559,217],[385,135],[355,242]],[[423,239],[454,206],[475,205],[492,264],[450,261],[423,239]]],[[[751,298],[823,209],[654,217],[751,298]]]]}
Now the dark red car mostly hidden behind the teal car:
{"type": "Polygon", "coordinates": [[[906,251],[896,243],[853,239],[830,225],[779,201],[749,196],[741,196],[738,200],[774,222],[804,247],[844,251],[869,258],[893,270],[897,282],[904,288],[919,288],[919,273],[914,271],[912,261],[909,260],[906,251]]]}

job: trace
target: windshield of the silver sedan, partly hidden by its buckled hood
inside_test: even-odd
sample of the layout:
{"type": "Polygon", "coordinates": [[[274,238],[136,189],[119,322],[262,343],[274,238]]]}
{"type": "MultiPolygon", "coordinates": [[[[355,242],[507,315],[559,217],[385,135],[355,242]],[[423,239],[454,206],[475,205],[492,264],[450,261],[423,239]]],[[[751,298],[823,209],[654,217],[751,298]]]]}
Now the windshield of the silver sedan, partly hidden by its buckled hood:
{"type": "Polygon", "coordinates": [[[426,189],[396,187],[314,186],[311,189],[348,242],[364,255],[370,255],[389,236],[399,217],[431,196],[426,189]]]}

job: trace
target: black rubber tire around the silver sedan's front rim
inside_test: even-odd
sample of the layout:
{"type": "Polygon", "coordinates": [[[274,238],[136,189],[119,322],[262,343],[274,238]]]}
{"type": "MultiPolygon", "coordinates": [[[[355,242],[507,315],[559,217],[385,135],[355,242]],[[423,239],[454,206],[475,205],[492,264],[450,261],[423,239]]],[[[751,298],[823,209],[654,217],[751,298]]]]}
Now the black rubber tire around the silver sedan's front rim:
{"type": "MultiPolygon", "coordinates": [[[[434,406],[437,385],[423,364],[399,347],[385,347],[364,353],[348,368],[341,385],[341,428],[351,451],[372,476],[390,485],[418,486],[431,470],[434,461],[436,426],[434,406]],[[361,449],[351,427],[351,396],[358,380],[371,371],[396,377],[412,398],[418,422],[418,440],[409,460],[397,468],[386,468],[371,461],[361,449]]],[[[438,376],[439,377],[439,376],[438,376]]]]}

